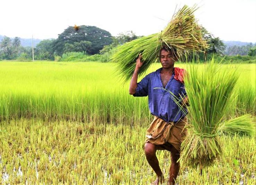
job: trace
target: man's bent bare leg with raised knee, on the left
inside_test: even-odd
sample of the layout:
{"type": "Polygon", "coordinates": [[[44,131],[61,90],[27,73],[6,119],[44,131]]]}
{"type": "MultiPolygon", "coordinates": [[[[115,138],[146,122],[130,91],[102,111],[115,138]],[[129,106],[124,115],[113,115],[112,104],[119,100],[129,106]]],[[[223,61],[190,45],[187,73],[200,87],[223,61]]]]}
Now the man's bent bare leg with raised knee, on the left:
{"type": "Polygon", "coordinates": [[[144,146],[145,155],[146,155],[148,163],[150,164],[150,166],[153,168],[154,172],[157,175],[157,178],[156,178],[154,184],[158,185],[158,184],[164,182],[164,176],[160,169],[159,161],[157,160],[157,157],[155,155],[156,150],[157,150],[156,145],[154,145],[150,142],[145,143],[145,146],[144,146]]]}

